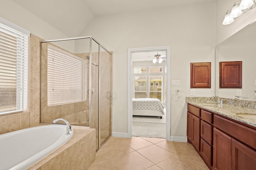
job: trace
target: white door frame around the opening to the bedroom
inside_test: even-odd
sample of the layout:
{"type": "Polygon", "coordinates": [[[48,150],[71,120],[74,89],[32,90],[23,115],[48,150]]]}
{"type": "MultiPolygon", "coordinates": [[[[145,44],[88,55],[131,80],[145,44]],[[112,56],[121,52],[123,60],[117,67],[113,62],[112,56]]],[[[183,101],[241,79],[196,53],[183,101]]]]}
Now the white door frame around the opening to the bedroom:
{"type": "Polygon", "coordinates": [[[166,51],[166,140],[170,141],[170,105],[171,105],[171,57],[170,46],[128,49],[128,137],[132,137],[132,53],[148,51],[166,51]]]}

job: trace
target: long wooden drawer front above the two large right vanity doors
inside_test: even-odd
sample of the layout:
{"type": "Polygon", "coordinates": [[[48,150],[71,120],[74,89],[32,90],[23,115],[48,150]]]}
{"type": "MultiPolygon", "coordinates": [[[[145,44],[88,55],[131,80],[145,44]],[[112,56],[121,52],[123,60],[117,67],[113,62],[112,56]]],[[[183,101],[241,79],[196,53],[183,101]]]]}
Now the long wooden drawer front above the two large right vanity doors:
{"type": "Polygon", "coordinates": [[[231,137],[236,138],[242,143],[256,149],[256,130],[250,129],[249,127],[240,125],[218,115],[214,115],[214,125],[231,137]]]}

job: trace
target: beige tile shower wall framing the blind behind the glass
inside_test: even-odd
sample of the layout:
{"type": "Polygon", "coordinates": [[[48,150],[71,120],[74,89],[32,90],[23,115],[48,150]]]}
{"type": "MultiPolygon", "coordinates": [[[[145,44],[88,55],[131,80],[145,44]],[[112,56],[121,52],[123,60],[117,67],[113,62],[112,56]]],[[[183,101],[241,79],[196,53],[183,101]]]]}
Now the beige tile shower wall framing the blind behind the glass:
{"type": "MultiPolygon", "coordinates": [[[[90,126],[89,116],[89,97],[84,102],[48,106],[47,104],[47,48],[52,45],[62,49],[52,43],[43,43],[41,47],[41,123],[52,123],[54,119],[63,118],[71,125],[90,126]]],[[[65,49],[62,49],[66,51],[65,49]]],[[[70,53],[69,51],[66,51],[70,53]]],[[[76,54],[73,54],[76,55],[76,54]]],[[[85,59],[86,54],[76,55],[85,59]]]]}

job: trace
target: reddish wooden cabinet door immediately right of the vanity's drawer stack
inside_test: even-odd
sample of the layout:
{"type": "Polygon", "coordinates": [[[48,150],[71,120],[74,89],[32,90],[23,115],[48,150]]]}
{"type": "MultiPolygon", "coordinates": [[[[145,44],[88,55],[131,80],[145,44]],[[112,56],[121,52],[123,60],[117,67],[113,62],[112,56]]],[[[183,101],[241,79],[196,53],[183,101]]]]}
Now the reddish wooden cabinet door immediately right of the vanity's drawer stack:
{"type": "Polygon", "coordinates": [[[230,136],[213,129],[213,169],[231,170],[232,169],[232,139],[230,136]]]}

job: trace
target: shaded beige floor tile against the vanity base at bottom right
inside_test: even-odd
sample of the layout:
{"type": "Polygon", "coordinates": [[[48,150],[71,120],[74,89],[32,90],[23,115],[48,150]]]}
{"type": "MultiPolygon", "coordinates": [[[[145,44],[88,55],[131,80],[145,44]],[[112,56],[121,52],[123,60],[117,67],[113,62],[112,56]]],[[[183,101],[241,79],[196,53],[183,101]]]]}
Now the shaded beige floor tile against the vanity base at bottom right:
{"type": "Polygon", "coordinates": [[[208,170],[208,167],[194,148],[189,147],[188,149],[178,153],[177,156],[183,160],[187,160],[188,162],[199,166],[200,168],[208,170]]]}

